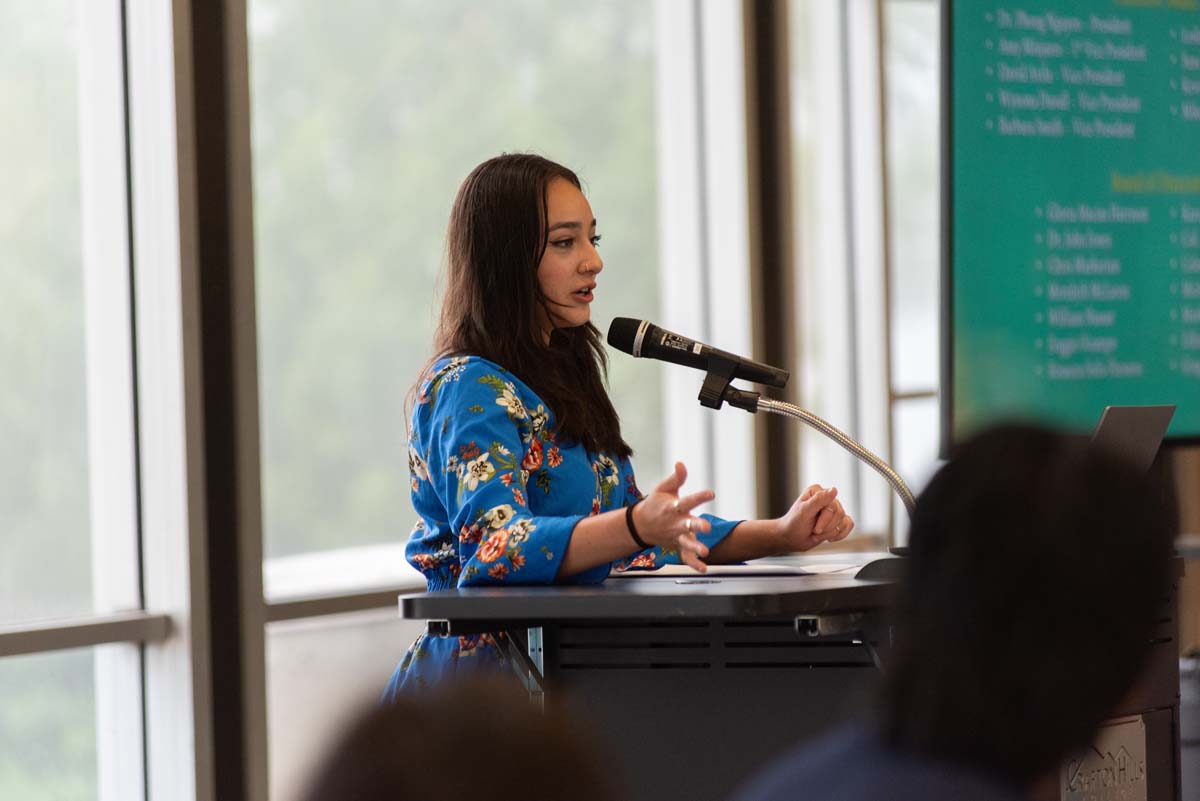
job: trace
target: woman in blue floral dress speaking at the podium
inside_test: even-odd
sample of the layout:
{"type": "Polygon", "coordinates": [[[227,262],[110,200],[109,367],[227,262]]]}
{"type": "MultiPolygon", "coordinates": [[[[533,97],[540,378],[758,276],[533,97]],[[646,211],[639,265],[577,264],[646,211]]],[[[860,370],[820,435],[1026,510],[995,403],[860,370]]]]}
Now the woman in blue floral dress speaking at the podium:
{"type": "MultiPolygon", "coordinates": [[[[592,325],[604,270],[575,173],[540,156],[491,158],[458,189],[446,233],[436,356],[414,387],[409,471],[419,519],[408,560],[430,590],[598,584],[616,570],[743,561],[844,538],[836,489],[809,487],[770,520],[696,508],[677,463],[648,494],[634,481],[592,325]]],[[[422,636],[385,698],[497,667],[490,634],[422,636]]]]}

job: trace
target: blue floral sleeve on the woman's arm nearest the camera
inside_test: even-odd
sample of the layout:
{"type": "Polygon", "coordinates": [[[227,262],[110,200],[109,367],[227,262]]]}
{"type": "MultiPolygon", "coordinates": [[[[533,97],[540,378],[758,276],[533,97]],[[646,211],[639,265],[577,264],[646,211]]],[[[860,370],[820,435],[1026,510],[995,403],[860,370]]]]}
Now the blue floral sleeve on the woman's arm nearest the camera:
{"type": "Polygon", "coordinates": [[[522,462],[540,447],[516,387],[470,363],[430,398],[430,480],[458,537],[458,586],[552,584],[584,514],[534,516],[522,462]]]}

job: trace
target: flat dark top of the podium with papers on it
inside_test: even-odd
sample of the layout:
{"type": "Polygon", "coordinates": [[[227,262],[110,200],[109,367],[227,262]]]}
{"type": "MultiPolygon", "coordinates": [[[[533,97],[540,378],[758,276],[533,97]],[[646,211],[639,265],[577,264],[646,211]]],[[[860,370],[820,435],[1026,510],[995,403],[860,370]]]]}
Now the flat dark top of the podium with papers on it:
{"type": "MultiPolygon", "coordinates": [[[[887,554],[822,554],[778,565],[874,561],[887,554]]],[[[760,560],[760,562],[763,560],[760,560]]],[[[570,621],[786,618],[888,606],[895,585],[844,574],[611,578],[593,586],[503,586],[400,596],[402,618],[451,621],[570,621]]]]}

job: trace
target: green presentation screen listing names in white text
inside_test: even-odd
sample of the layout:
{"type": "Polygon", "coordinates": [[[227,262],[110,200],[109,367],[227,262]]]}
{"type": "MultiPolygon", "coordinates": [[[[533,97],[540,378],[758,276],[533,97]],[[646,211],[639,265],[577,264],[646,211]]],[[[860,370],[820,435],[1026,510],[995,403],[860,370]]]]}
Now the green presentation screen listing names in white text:
{"type": "Polygon", "coordinates": [[[1200,435],[1200,4],[949,2],[949,433],[1200,435]]]}

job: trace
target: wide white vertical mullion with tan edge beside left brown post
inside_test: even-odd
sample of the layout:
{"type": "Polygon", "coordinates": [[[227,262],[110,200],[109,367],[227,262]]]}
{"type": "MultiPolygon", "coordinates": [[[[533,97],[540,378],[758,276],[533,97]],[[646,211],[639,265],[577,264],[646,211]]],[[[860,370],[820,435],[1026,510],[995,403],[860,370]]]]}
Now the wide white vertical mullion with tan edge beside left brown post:
{"type": "Polygon", "coordinates": [[[214,801],[204,424],[187,2],[126,8],[149,801],[214,801]]]}

